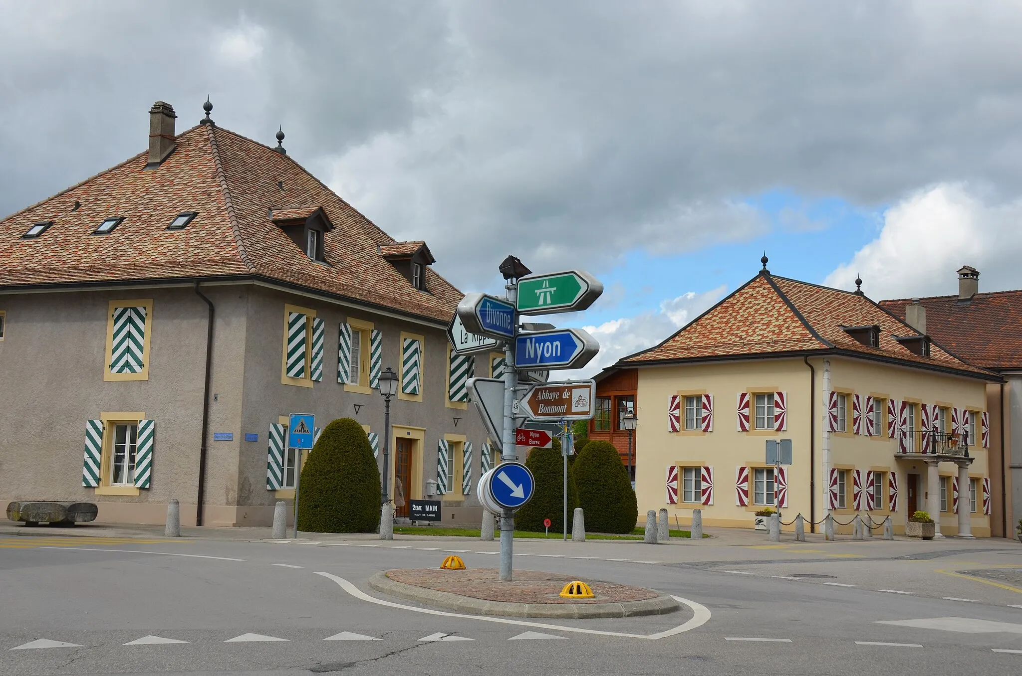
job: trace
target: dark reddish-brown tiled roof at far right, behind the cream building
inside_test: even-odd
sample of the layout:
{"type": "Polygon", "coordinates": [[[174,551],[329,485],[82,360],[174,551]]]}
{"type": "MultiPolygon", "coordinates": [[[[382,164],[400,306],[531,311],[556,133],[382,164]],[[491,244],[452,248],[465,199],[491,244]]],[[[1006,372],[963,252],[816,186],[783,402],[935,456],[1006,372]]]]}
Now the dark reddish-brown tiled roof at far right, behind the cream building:
{"type": "MultiPolygon", "coordinates": [[[[880,305],[904,318],[908,298],[880,305]]],[[[958,296],[920,298],[926,308],[926,333],[959,357],[984,369],[1022,369],[1022,291],[977,293],[968,302],[958,296]]]]}

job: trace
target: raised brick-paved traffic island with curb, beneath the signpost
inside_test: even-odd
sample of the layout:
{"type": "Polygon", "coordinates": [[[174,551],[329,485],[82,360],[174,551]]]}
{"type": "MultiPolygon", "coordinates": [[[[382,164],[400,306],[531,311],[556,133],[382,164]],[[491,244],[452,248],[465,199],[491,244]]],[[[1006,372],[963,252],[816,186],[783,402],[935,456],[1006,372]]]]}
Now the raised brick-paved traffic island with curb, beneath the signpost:
{"type": "Polygon", "coordinates": [[[542,571],[514,572],[501,582],[494,568],[382,571],[369,586],[391,596],[472,615],[517,618],[624,618],[673,613],[672,597],[626,584],[586,580],[593,598],[564,598],[561,590],[576,578],[542,571]]]}

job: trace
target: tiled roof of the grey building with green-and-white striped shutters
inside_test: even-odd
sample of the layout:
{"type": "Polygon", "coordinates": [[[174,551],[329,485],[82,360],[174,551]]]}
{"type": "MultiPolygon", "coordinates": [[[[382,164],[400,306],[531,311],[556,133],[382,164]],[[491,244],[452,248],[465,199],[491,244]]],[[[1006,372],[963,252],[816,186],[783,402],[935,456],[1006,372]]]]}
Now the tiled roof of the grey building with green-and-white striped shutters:
{"type": "Polygon", "coordinates": [[[379,253],[394,240],[290,156],[212,125],[182,133],[177,144],[156,170],[144,170],[141,153],[0,221],[0,288],[250,277],[436,322],[454,313],[460,291],[431,269],[428,292],[415,289],[379,253]],[[335,227],[324,237],[329,264],[311,260],[271,221],[271,209],[279,216],[296,204],[322,207],[335,227]],[[182,211],[198,215],[168,231],[182,211]],[[110,216],[125,220],[93,235],[110,216]],[[20,239],[41,221],[54,225],[20,239]]]}

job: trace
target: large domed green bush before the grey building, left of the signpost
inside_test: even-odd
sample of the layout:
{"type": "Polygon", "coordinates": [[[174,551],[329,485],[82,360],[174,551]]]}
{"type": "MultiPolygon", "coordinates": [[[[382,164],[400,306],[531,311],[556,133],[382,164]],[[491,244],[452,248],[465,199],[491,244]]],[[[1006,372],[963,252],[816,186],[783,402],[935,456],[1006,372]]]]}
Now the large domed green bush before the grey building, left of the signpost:
{"type": "Polygon", "coordinates": [[[380,472],[369,437],[351,418],[320,434],[301,468],[298,530],[372,533],[380,521],[380,472]]]}

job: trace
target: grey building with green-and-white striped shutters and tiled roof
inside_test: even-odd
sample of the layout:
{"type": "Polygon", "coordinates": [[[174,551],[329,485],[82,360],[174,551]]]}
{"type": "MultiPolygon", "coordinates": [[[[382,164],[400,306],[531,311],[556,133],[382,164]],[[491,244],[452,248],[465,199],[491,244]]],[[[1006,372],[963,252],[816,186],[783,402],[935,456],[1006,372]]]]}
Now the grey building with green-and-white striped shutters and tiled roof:
{"type": "MultiPolygon", "coordinates": [[[[206,117],[0,221],[0,500],[258,526],[293,499],[286,416],[364,426],[399,498],[476,522],[493,462],[452,355],[461,292],[288,156],[206,117]],[[399,377],[383,439],[383,370],[399,377]]],[[[402,506],[404,501],[406,506],[402,506]]]]}

